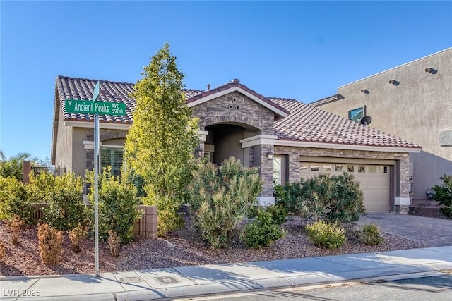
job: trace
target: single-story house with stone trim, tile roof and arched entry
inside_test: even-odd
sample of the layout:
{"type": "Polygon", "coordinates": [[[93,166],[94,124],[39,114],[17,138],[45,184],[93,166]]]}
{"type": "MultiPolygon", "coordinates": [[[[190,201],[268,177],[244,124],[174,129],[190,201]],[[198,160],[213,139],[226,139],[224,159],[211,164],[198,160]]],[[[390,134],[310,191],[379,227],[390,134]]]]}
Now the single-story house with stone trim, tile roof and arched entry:
{"type": "MultiPolygon", "coordinates": [[[[96,80],[57,77],[52,164],[84,175],[94,166],[93,115],[68,113],[65,99],[92,99],[96,80]]],[[[132,123],[133,84],[100,82],[100,100],[124,102],[126,116],[100,116],[101,165],[119,173],[132,123]]],[[[407,211],[409,154],[421,147],[402,138],[302,104],[264,97],[233,80],[213,89],[184,90],[186,104],[200,118],[200,146],[216,164],[235,156],[258,166],[261,204],[273,203],[273,182],[317,173],[353,173],[369,212],[407,211]]]]}

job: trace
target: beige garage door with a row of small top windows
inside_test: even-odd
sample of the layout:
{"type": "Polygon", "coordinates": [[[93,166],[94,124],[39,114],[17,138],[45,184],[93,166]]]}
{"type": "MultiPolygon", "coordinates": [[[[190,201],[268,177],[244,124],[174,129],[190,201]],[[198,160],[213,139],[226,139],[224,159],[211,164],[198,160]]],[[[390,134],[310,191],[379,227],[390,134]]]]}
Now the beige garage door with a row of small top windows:
{"type": "Polygon", "coordinates": [[[300,176],[308,178],[319,173],[352,173],[364,195],[368,213],[389,212],[389,166],[300,162],[300,176]]]}

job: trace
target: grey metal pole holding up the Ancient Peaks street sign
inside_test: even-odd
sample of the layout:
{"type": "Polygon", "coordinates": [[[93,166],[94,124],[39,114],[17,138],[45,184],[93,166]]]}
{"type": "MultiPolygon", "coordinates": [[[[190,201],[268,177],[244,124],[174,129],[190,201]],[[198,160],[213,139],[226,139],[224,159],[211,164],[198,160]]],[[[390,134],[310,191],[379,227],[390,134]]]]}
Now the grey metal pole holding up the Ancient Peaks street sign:
{"type": "MultiPolygon", "coordinates": [[[[96,83],[93,101],[99,97],[99,82],[96,83]]],[[[95,248],[95,276],[99,277],[99,114],[94,114],[94,248],[95,248]]]]}

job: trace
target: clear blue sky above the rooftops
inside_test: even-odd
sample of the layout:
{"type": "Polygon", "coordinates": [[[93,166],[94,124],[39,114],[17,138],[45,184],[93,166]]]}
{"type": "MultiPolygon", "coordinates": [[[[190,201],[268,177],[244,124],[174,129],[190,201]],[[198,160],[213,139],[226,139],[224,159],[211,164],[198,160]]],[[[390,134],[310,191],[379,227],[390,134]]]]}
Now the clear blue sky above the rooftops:
{"type": "Polygon", "coordinates": [[[0,149],[50,156],[57,75],[136,82],[169,42],[185,85],[313,102],[452,47],[451,1],[0,1],[0,149]]]}

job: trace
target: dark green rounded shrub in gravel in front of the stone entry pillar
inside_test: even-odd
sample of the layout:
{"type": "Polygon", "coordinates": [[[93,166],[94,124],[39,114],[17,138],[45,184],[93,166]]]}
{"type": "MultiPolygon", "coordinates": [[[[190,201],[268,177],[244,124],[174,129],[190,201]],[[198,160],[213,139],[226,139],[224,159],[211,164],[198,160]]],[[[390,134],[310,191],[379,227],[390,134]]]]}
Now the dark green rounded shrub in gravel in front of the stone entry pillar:
{"type": "Polygon", "coordinates": [[[245,226],[240,238],[248,247],[261,249],[283,238],[284,235],[283,228],[275,223],[272,213],[268,210],[260,209],[258,210],[256,221],[252,221],[245,226]]]}

